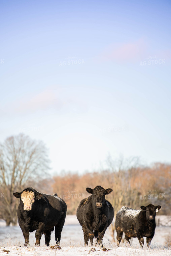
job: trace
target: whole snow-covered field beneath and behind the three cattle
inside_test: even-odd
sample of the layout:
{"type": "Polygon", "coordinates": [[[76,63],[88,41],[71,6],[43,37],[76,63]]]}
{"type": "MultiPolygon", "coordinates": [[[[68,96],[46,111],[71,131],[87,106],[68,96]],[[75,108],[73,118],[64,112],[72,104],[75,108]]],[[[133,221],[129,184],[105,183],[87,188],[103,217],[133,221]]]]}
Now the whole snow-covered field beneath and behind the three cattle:
{"type": "MultiPolygon", "coordinates": [[[[24,246],[24,237],[19,226],[6,227],[4,221],[0,221],[0,255],[115,255],[115,256],[171,256],[171,216],[156,216],[156,223],[160,219],[160,225],[156,227],[155,236],[151,241],[150,248],[140,249],[137,238],[132,239],[131,246],[122,244],[117,248],[112,242],[111,228],[108,227],[103,239],[103,247],[110,249],[102,251],[99,246],[84,247],[82,228],[75,215],[67,215],[65,225],[61,234],[61,249],[50,249],[55,245],[55,234],[51,234],[50,246],[45,246],[44,235],[40,241],[40,247],[35,247],[35,231],[30,233],[30,246],[24,246]],[[95,250],[93,250],[95,248],[95,250]]],[[[116,239],[116,234],[115,234],[116,239]]]]}

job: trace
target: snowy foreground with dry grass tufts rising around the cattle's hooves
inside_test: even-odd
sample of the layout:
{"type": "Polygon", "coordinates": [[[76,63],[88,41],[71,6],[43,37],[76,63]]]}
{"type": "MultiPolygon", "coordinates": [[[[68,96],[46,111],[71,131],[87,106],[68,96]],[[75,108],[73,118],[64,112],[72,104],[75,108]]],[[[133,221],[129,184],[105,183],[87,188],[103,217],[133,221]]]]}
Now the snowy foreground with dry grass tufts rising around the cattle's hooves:
{"type": "MultiPolygon", "coordinates": [[[[166,237],[168,241],[169,235],[166,237]]],[[[168,243],[168,242],[167,242],[168,243]]],[[[108,256],[171,256],[171,250],[170,246],[167,244],[165,246],[158,245],[156,243],[153,243],[150,248],[148,248],[146,245],[143,249],[140,248],[140,245],[137,244],[128,244],[128,243],[121,243],[120,247],[118,248],[116,243],[113,243],[111,240],[108,239],[107,243],[103,243],[103,246],[107,249],[106,252],[102,251],[102,248],[97,244],[95,246],[95,242],[93,243],[93,246],[84,246],[83,239],[80,239],[78,242],[72,241],[70,239],[69,242],[60,243],[61,250],[53,250],[50,249],[50,246],[47,247],[45,245],[43,246],[34,246],[34,241],[31,242],[31,245],[28,247],[24,246],[24,243],[21,242],[19,239],[11,239],[10,237],[4,239],[0,243],[0,254],[4,253],[3,250],[9,250],[9,255],[12,253],[13,255],[46,255],[46,256],[102,256],[102,255],[108,255],[108,256]],[[93,249],[95,248],[95,250],[93,249]]],[[[1,254],[1,255],[2,255],[1,254]]],[[[6,253],[5,253],[6,254],[6,253]]]]}

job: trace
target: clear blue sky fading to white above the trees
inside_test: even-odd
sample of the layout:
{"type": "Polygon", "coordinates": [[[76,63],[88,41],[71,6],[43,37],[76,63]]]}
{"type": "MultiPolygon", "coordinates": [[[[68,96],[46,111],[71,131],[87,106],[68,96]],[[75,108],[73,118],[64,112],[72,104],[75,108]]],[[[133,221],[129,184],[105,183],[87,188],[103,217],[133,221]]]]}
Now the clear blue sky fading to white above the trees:
{"type": "Polygon", "coordinates": [[[1,1],[0,141],[43,140],[52,173],[170,162],[170,1],[1,1]]]}

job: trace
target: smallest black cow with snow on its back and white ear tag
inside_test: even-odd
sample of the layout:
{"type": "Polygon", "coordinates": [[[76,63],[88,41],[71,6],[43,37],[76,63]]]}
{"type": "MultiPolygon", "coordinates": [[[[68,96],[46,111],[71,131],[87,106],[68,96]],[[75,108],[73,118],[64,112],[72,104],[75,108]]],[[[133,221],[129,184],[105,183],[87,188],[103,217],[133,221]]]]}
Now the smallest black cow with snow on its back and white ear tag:
{"type": "Polygon", "coordinates": [[[140,206],[140,208],[142,210],[133,210],[123,206],[117,212],[115,221],[117,246],[119,246],[124,232],[126,242],[130,243],[131,237],[137,237],[141,247],[143,247],[143,236],[145,236],[147,246],[149,247],[155,234],[156,212],[161,209],[161,206],[148,204],[147,206],[140,206]]]}

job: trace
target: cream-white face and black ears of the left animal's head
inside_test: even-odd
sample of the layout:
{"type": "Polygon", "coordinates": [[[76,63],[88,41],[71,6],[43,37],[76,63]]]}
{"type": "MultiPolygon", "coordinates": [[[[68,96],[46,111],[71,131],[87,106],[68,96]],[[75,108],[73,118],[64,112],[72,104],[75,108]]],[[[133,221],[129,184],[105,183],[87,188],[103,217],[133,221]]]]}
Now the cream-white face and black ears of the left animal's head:
{"type": "Polygon", "coordinates": [[[13,196],[20,198],[23,202],[24,211],[31,211],[35,199],[40,199],[43,195],[33,188],[26,188],[22,192],[13,193],[13,196]]]}

